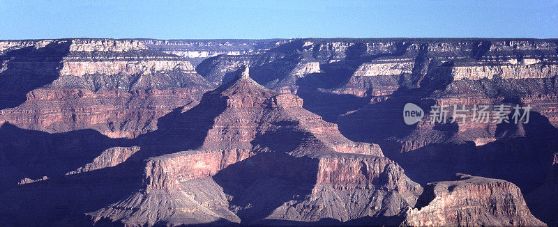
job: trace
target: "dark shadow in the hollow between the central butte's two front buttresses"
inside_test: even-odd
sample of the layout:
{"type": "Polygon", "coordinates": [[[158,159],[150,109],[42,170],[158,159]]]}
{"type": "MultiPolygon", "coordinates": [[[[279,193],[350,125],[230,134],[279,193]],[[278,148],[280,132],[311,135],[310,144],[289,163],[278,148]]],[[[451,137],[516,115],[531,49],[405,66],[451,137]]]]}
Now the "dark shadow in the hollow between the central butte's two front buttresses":
{"type": "Polygon", "coordinates": [[[227,166],[213,180],[232,196],[229,207],[241,224],[253,224],[283,203],[311,194],[317,169],[317,160],[309,157],[264,152],[227,166]]]}

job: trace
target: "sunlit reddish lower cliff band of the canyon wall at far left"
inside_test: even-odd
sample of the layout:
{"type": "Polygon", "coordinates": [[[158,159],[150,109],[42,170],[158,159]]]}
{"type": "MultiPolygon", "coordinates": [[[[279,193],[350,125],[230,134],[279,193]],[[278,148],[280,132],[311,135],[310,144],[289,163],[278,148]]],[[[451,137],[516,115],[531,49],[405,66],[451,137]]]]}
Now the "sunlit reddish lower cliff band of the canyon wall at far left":
{"type": "Polygon", "coordinates": [[[173,109],[193,106],[199,92],[38,89],[28,93],[27,102],[19,107],[0,110],[0,123],[45,132],[92,128],[113,138],[134,138],[156,130],[158,118],[173,109]]]}

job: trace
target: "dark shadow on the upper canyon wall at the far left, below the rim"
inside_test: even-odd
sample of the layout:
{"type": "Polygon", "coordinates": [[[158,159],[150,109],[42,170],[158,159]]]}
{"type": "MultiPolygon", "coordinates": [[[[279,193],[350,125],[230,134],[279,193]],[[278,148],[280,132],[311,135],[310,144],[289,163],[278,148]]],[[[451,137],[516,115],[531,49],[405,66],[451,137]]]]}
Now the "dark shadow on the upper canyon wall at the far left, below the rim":
{"type": "Polygon", "coordinates": [[[6,68],[0,70],[0,110],[19,106],[29,91],[57,79],[71,44],[71,40],[53,41],[38,49],[23,47],[0,56],[0,63],[6,61],[0,65],[6,68]]]}

